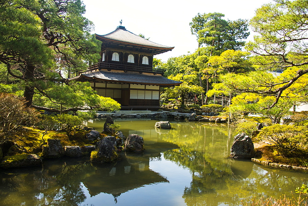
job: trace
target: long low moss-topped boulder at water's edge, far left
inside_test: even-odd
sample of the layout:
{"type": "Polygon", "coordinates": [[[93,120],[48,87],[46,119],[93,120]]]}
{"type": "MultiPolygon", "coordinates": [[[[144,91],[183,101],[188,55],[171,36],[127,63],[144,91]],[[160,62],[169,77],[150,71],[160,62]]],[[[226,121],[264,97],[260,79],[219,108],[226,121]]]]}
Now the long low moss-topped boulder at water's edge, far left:
{"type": "Polygon", "coordinates": [[[1,162],[3,168],[20,168],[28,166],[42,165],[42,158],[40,156],[30,154],[18,154],[14,156],[5,156],[1,162]]]}

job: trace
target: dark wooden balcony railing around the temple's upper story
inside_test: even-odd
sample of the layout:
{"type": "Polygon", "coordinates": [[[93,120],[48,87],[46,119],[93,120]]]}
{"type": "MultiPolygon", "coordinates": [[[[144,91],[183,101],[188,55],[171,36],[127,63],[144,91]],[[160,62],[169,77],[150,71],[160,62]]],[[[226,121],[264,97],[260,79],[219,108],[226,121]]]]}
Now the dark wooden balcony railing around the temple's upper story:
{"type": "Polygon", "coordinates": [[[139,71],[139,72],[155,72],[157,74],[163,74],[164,71],[162,69],[157,68],[149,68],[149,67],[139,67],[139,66],[132,66],[132,65],[124,65],[124,64],[112,64],[112,63],[104,63],[99,62],[96,64],[92,64],[88,67],[86,71],[93,71],[96,69],[113,69],[113,70],[122,70],[122,71],[139,71]]]}

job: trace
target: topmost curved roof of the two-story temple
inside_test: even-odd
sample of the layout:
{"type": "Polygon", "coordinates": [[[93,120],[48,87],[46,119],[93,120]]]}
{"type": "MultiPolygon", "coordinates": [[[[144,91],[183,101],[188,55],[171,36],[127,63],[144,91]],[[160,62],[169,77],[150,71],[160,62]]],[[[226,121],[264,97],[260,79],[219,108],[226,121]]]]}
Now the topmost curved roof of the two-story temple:
{"type": "Polygon", "coordinates": [[[165,49],[173,49],[174,47],[170,46],[164,46],[161,44],[156,44],[154,42],[151,42],[145,38],[140,37],[139,35],[136,35],[124,28],[117,28],[116,30],[110,32],[109,34],[105,35],[99,35],[96,34],[99,37],[112,39],[120,42],[127,42],[132,44],[138,44],[142,46],[152,46],[152,47],[158,47],[158,48],[165,48],[165,49]]]}

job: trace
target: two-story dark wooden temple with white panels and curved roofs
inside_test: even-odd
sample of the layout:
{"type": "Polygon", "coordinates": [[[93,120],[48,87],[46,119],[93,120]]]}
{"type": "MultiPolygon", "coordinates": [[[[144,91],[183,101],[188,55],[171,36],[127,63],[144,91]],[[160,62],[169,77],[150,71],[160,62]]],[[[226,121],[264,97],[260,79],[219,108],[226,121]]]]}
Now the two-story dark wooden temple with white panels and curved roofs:
{"type": "Polygon", "coordinates": [[[181,84],[153,68],[153,55],[174,47],[151,42],[124,26],[109,34],[95,35],[102,42],[100,62],[70,80],[91,82],[98,95],[115,99],[121,110],[156,111],[160,108],[160,87],[181,84]]]}

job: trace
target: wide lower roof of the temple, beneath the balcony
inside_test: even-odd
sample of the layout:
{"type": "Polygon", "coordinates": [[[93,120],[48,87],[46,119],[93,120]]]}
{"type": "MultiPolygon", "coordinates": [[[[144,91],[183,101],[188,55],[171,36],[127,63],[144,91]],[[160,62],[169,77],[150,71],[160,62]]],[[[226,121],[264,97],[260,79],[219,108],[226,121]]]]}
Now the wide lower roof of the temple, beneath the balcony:
{"type": "Polygon", "coordinates": [[[69,80],[87,80],[87,81],[105,81],[113,83],[133,83],[144,85],[158,85],[158,86],[175,86],[180,85],[182,82],[167,79],[163,76],[156,75],[142,75],[130,74],[109,71],[96,71],[88,74],[80,74],[79,76],[70,78],[69,80]]]}

